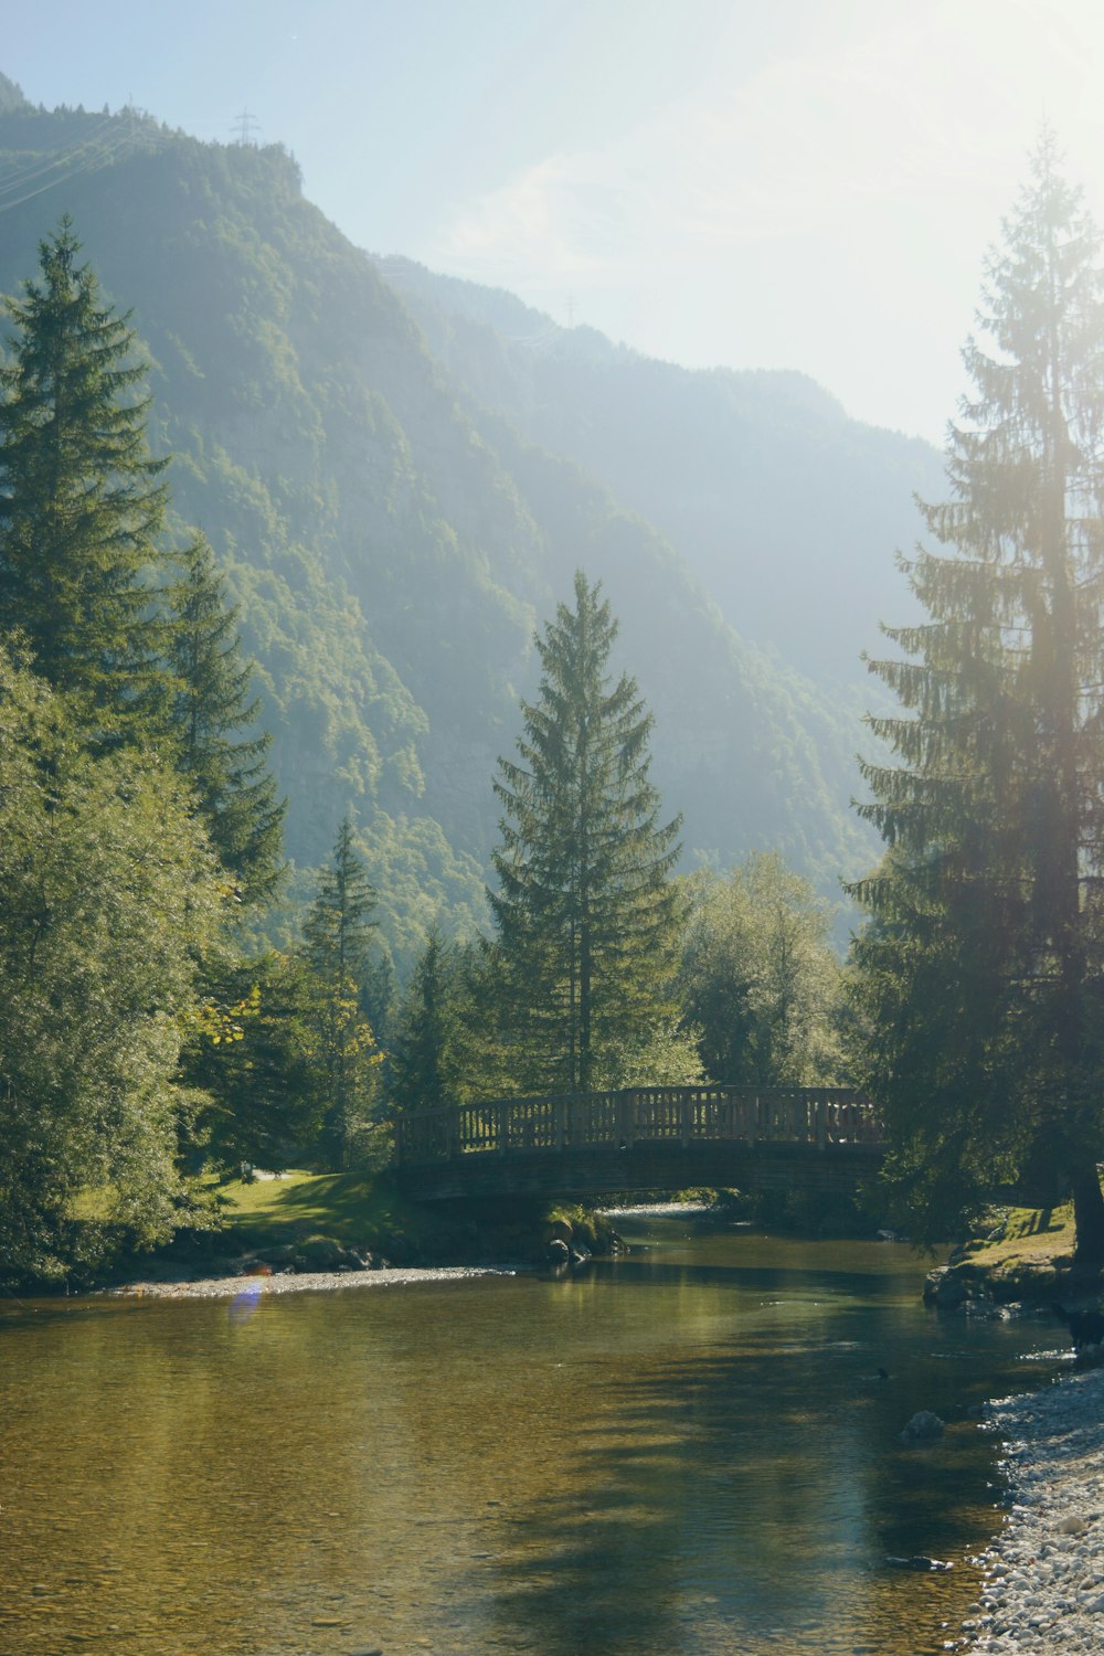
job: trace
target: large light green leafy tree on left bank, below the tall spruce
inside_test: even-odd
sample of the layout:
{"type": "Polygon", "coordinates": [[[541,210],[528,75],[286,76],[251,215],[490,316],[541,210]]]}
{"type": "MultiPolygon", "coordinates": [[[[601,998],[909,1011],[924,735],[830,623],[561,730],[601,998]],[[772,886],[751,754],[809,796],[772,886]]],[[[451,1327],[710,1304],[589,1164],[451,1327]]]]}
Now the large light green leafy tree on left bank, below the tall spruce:
{"type": "Polygon", "coordinates": [[[71,1207],[164,1239],[185,1206],[179,1083],[217,864],[149,753],[93,758],[61,697],[0,659],[0,1260],[48,1277],[71,1207]]]}

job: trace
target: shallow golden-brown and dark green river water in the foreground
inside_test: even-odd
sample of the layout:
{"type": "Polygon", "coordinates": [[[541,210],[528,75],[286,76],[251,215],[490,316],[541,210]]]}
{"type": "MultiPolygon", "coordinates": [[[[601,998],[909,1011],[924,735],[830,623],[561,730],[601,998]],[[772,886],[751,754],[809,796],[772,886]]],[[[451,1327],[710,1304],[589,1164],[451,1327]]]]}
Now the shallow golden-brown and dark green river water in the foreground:
{"type": "Polygon", "coordinates": [[[895,1244],[621,1227],[563,1280],[8,1305],[0,1653],[942,1651],[1001,1520],[970,1409],[1054,1328],[927,1312],[895,1244]]]}

